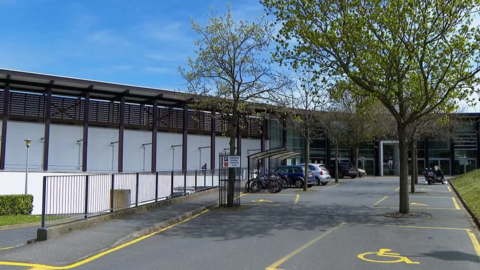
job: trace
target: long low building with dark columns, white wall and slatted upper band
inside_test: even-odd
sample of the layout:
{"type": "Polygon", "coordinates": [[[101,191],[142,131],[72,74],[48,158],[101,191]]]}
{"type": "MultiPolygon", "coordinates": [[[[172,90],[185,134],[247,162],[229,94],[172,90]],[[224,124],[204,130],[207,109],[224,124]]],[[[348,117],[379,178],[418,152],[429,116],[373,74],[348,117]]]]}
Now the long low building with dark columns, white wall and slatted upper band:
{"type": "MultiPolygon", "coordinates": [[[[228,151],[222,137],[228,123],[215,111],[188,109],[185,93],[130,85],[0,69],[0,170],[24,171],[25,139],[29,170],[43,172],[142,172],[218,167],[218,153],[228,151]],[[154,121],[156,119],[156,121],[154,121]]],[[[469,115],[472,119],[480,115],[469,115]]],[[[301,151],[303,140],[275,119],[248,117],[237,147],[246,164],[249,154],[287,146],[301,151]]],[[[419,168],[438,164],[445,174],[478,167],[479,125],[458,140],[418,143],[419,168]]],[[[339,150],[349,161],[348,147],[339,150]]],[[[369,175],[398,174],[398,142],[365,143],[360,166],[369,175]]],[[[326,139],[311,144],[311,161],[329,163],[334,152],[326,139]]],[[[289,164],[303,162],[292,158],[289,164]]],[[[246,165],[245,165],[246,167],[246,165]]]]}

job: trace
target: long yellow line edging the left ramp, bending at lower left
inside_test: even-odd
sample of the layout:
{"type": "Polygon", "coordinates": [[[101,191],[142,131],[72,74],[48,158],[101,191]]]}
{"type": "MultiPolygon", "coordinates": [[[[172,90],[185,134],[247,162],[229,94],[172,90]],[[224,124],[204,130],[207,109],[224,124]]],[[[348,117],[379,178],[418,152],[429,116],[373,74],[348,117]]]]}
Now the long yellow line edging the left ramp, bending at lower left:
{"type": "Polygon", "coordinates": [[[77,262],[77,263],[74,263],[74,264],[71,264],[71,265],[67,265],[67,266],[52,266],[52,265],[35,264],[35,263],[2,262],[2,261],[0,261],[0,265],[24,266],[24,267],[35,267],[35,268],[38,267],[39,269],[49,269],[49,270],[72,269],[72,268],[75,268],[75,267],[84,265],[84,264],[86,264],[86,263],[92,262],[92,261],[94,261],[94,260],[96,260],[96,259],[98,259],[98,258],[101,258],[101,257],[103,257],[103,256],[105,256],[105,255],[107,255],[107,254],[110,254],[110,253],[112,253],[112,252],[115,252],[115,251],[117,251],[117,250],[120,250],[120,249],[122,249],[122,248],[124,248],[124,247],[128,247],[128,246],[133,245],[133,244],[135,244],[135,243],[137,243],[137,242],[140,242],[140,241],[142,241],[142,240],[145,240],[145,239],[147,239],[147,238],[149,238],[149,237],[151,237],[151,236],[153,236],[153,235],[155,235],[155,234],[164,232],[164,231],[166,231],[166,230],[168,230],[168,229],[171,229],[171,228],[173,228],[173,227],[175,227],[175,226],[177,226],[177,225],[180,225],[180,224],[182,224],[182,223],[185,223],[185,222],[187,222],[187,221],[190,221],[190,220],[192,220],[192,219],[194,219],[194,218],[196,218],[196,217],[198,217],[198,216],[200,216],[200,215],[202,215],[202,214],[204,214],[204,213],[206,213],[206,212],[208,212],[208,211],[209,211],[208,209],[207,209],[207,210],[204,210],[204,211],[201,212],[200,214],[197,214],[197,215],[194,215],[194,216],[192,216],[192,217],[189,217],[189,218],[187,218],[187,219],[185,219],[185,220],[183,220],[183,221],[180,221],[180,222],[178,222],[178,223],[172,224],[172,225],[170,225],[170,226],[168,226],[168,227],[165,227],[165,228],[163,228],[163,229],[160,229],[160,230],[158,230],[158,231],[156,231],[156,232],[153,232],[153,233],[151,233],[151,234],[147,234],[147,235],[145,235],[145,236],[142,236],[142,237],[140,237],[140,238],[137,238],[137,239],[135,239],[135,240],[132,240],[132,241],[130,241],[130,242],[128,242],[128,243],[125,243],[125,244],[123,244],[123,245],[120,245],[120,246],[118,246],[118,247],[115,247],[115,248],[106,250],[106,251],[104,251],[104,252],[100,252],[100,253],[98,253],[97,255],[94,255],[94,256],[92,256],[92,257],[86,258],[86,259],[84,259],[84,260],[81,260],[81,261],[79,261],[79,262],[77,262]]]}

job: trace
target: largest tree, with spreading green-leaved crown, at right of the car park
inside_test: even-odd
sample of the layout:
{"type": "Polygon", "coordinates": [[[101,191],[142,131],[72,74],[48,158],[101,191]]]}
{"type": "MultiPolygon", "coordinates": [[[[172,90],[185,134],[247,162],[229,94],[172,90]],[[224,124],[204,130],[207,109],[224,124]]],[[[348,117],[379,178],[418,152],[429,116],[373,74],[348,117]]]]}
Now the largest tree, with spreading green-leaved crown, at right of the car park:
{"type": "Polygon", "coordinates": [[[274,57],[317,77],[351,80],[397,123],[399,212],[409,213],[407,128],[450,113],[478,84],[478,0],[264,0],[280,26],[274,57]]]}

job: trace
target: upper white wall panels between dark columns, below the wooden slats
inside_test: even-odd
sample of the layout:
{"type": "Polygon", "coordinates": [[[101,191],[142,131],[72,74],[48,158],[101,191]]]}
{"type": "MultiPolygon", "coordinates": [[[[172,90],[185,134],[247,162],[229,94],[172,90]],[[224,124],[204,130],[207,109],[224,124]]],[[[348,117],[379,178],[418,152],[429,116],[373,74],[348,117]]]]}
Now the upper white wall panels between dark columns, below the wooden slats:
{"type": "MultiPolygon", "coordinates": [[[[0,121],[1,127],[1,121],[0,121]]],[[[0,128],[1,132],[1,128],[0,128]]],[[[124,172],[150,171],[151,141],[150,131],[125,130],[124,172]],[[142,144],[146,144],[142,147],[142,144]]],[[[5,171],[24,171],[26,164],[25,139],[31,139],[29,148],[29,170],[43,169],[44,124],[9,121],[5,171]]],[[[52,124],[50,127],[49,172],[79,172],[82,169],[83,127],[52,124]]],[[[118,130],[111,128],[89,128],[88,172],[114,172],[118,170],[118,130]],[[113,143],[113,144],[112,144],[113,143]]],[[[229,138],[217,136],[215,141],[215,168],[218,168],[218,153],[229,148],[229,138]]],[[[187,168],[199,169],[203,164],[211,168],[210,136],[188,135],[187,168]]],[[[157,133],[157,170],[181,170],[182,144],[180,133],[157,133]]],[[[266,147],[268,149],[268,141],[266,147]]],[[[247,166],[247,155],[260,149],[259,139],[242,139],[242,166],[247,166]]],[[[227,150],[228,153],[228,150],[227,150]]]]}

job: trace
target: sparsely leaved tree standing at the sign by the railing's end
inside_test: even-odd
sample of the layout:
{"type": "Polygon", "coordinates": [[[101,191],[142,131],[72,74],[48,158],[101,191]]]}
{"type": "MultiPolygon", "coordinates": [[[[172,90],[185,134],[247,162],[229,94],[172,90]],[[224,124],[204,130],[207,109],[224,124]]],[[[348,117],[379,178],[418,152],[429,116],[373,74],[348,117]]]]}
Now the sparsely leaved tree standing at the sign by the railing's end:
{"type": "MultiPolygon", "coordinates": [[[[272,36],[265,17],[255,22],[235,21],[231,6],[222,16],[211,11],[208,25],[192,19],[196,59],[189,57],[188,69],[179,67],[187,89],[197,96],[196,106],[215,108],[229,123],[230,155],[235,154],[239,119],[249,105],[268,99],[287,82],[264,60],[272,36]]],[[[240,153],[237,153],[240,155],[240,153]]],[[[233,206],[235,172],[229,171],[227,206],[233,206]]]]}

